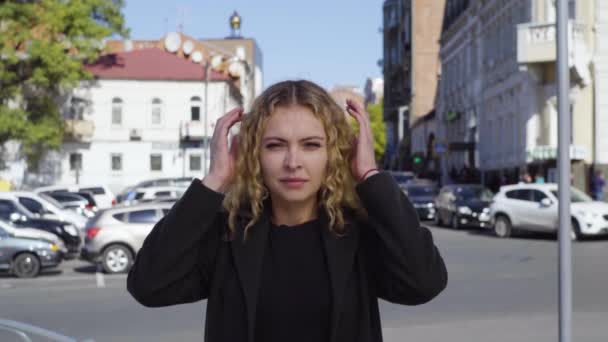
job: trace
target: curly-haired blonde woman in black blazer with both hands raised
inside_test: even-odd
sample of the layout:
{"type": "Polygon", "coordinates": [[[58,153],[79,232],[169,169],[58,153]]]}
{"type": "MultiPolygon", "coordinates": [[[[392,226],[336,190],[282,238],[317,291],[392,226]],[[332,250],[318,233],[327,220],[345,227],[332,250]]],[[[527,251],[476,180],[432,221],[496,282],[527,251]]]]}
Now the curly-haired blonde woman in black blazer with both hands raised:
{"type": "Polygon", "coordinates": [[[377,169],[363,107],[346,108],[357,137],[325,90],[285,81],[220,118],[209,173],[146,238],[131,295],[148,307],[207,299],[213,342],[381,341],[378,298],[437,296],[447,271],[431,233],[377,169]]]}

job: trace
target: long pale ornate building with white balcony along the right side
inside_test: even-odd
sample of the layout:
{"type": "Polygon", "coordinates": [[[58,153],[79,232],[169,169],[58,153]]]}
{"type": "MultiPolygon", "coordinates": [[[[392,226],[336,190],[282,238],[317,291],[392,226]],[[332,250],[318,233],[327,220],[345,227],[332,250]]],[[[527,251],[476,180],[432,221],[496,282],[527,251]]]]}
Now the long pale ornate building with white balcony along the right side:
{"type": "MultiPolygon", "coordinates": [[[[606,34],[600,2],[569,1],[570,150],[583,189],[608,151],[599,134],[608,127],[608,106],[596,89],[606,82],[608,51],[594,29],[606,34]]],[[[556,181],[555,12],[551,0],[448,0],[437,105],[439,136],[449,146],[444,181],[460,181],[463,169],[479,169],[493,189],[523,171],[556,181]]]]}

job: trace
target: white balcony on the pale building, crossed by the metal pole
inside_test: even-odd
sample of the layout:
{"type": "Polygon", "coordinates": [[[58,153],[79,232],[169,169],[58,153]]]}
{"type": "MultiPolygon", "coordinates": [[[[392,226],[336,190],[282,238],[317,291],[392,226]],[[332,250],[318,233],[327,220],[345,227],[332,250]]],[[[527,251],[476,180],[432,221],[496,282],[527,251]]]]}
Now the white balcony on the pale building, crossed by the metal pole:
{"type": "MultiPolygon", "coordinates": [[[[526,23],[517,25],[517,62],[535,64],[557,60],[557,27],[555,23],[526,23]]],[[[585,25],[568,22],[568,50],[570,61],[586,54],[585,25]]]]}

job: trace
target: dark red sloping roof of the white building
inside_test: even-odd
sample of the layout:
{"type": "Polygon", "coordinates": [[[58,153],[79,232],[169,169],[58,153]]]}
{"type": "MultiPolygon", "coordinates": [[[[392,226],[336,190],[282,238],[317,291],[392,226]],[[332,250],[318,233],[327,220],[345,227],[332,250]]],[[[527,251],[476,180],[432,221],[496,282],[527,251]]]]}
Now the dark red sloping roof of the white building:
{"type": "MultiPolygon", "coordinates": [[[[85,68],[100,79],[203,81],[203,65],[157,48],[110,53],[85,68]]],[[[209,81],[230,81],[228,75],[211,70],[209,81]]]]}

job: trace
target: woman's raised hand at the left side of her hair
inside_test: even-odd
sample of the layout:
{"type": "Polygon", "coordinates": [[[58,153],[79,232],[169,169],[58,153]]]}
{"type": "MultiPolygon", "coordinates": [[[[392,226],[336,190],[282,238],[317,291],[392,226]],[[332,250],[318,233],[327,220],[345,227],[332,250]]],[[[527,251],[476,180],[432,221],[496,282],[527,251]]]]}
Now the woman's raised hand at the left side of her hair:
{"type": "Polygon", "coordinates": [[[211,190],[224,192],[234,178],[238,136],[232,138],[228,148],[228,132],[235,123],[243,118],[243,109],[235,108],[219,118],[211,137],[211,162],[209,173],[203,179],[203,184],[211,190]]]}

